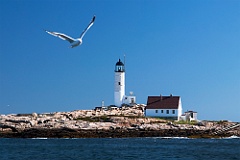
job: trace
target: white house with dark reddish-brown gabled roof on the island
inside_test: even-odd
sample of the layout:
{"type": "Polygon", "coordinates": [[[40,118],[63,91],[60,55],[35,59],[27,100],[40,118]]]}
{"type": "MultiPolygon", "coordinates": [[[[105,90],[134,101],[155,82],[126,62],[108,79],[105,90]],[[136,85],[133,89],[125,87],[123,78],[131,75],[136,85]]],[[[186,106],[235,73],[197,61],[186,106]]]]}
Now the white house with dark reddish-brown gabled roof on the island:
{"type": "Polygon", "coordinates": [[[181,115],[180,96],[148,96],[145,116],[179,120],[181,115]]]}

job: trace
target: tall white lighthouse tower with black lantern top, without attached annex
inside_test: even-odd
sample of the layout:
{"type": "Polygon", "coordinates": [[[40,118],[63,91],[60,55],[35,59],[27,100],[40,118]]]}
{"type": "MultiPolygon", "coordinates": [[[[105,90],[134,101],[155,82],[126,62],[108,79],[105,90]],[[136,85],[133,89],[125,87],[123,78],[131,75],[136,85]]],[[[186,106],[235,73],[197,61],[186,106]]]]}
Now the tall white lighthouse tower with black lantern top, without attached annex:
{"type": "Polygon", "coordinates": [[[119,61],[115,65],[114,104],[121,107],[125,96],[125,67],[119,61]]]}

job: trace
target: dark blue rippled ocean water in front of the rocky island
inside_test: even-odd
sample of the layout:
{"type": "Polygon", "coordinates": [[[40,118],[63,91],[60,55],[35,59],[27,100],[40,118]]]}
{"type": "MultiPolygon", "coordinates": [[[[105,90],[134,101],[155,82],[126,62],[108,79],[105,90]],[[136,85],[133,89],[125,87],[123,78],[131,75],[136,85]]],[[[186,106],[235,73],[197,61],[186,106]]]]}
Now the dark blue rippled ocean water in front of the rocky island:
{"type": "Polygon", "coordinates": [[[240,138],[0,138],[0,160],[240,160],[240,138]]]}

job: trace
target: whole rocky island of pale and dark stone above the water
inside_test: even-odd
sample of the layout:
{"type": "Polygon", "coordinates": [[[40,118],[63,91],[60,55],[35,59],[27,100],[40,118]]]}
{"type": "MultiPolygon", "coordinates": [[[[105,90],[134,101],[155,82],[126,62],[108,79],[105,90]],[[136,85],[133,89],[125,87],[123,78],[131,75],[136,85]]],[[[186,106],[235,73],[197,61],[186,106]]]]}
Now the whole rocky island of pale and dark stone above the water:
{"type": "Polygon", "coordinates": [[[144,106],[45,114],[0,115],[0,138],[122,138],[240,136],[240,123],[182,122],[144,117],[144,106]]]}

